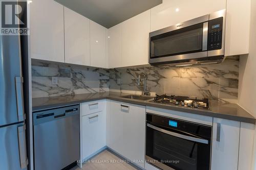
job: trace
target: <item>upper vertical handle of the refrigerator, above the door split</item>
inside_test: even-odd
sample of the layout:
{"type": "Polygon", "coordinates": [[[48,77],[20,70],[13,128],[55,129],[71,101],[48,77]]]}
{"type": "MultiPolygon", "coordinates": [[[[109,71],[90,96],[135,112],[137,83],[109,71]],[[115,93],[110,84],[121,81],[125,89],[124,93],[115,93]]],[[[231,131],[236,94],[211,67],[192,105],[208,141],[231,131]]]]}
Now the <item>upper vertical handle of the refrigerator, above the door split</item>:
{"type": "Polygon", "coordinates": [[[23,77],[15,77],[18,122],[26,119],[24,113],[23,77]]]}

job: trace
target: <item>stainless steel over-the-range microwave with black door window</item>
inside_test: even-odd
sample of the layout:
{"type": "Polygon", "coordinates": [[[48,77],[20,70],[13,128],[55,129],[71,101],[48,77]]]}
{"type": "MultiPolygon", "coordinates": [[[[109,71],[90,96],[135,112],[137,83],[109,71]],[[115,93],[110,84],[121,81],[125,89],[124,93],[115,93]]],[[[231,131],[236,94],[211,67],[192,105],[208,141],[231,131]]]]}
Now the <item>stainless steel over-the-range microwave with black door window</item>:
{"type": "Polygon", "coordinates": [[[150,33],[149,63],[216,62],[224,58],[226,10],[150,33]]]}

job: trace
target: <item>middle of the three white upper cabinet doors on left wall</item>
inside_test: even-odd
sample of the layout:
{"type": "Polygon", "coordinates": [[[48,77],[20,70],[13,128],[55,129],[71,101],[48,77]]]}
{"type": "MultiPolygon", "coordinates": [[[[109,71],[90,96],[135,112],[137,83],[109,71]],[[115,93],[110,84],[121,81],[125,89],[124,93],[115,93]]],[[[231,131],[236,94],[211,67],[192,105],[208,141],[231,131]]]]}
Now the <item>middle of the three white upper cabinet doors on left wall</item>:
{"type": "Polygon", "coordinates": [[[65,16],[65,62],[90,65],[90,20],[68,8],[65,16]]]}

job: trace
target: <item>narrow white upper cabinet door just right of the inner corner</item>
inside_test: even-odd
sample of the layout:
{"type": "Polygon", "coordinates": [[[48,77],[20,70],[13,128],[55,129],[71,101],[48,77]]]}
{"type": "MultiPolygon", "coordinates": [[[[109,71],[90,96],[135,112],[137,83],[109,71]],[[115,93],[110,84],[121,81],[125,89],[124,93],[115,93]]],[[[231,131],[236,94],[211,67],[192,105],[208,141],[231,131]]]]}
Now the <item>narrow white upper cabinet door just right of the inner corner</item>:
{"type": "Polygon", "coordinates": [[[122,27],[121,23],[109,29],[109,67],[122,66],[122,27]]]}

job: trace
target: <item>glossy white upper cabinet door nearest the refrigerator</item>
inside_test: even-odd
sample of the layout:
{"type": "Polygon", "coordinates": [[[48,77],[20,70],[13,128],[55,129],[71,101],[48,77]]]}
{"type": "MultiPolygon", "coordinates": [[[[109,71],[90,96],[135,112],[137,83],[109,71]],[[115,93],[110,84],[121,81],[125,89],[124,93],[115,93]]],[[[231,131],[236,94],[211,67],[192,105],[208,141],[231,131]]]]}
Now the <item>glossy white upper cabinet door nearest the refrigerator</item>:
{"type": "Polygon", "coordinates": [[[64,62],[63,6],[53,0],[30,3],[31,58],[64,62]]]}

